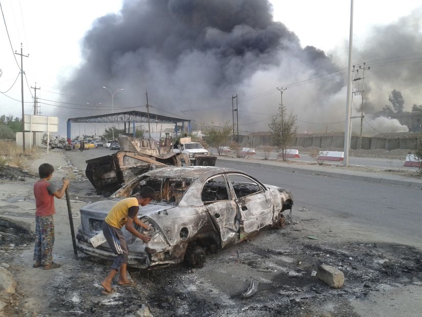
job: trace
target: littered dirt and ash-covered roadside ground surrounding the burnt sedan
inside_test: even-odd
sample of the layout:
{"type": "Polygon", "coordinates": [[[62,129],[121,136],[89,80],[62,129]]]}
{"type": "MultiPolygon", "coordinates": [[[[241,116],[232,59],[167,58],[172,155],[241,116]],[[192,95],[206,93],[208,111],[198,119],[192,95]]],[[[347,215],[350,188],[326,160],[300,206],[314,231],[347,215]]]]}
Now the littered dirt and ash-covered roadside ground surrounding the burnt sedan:
{"type": "MultiPolygon", "coordinates": [[[[31,162],[30,172],[43,160],[31,162]]],[[[57,166],[54,182],[71,178],[77,227],[79,208],[102,197],[64,151],[51,151],[48,160],[57,166]]],[[[54,247],[62,267],[32,268],[35,181],[0,180],[0,262],[11,266],[18,282],[5,316],[136,316],[142,304],[154,316],[420,316],[422,311],[421,249],[300,206],[284,228],[208,254],[203,268],[131,269],[136,287],[115,286],[114,294],[101,296],[108,265],[81,254],[74,258],[64,199],[56,201],[54,247]],[[311,276],[319,264],[342,270],[344,286],[332,289],[311,276]],[[258,292],[242,299],[252,278],[258,292]]]]}

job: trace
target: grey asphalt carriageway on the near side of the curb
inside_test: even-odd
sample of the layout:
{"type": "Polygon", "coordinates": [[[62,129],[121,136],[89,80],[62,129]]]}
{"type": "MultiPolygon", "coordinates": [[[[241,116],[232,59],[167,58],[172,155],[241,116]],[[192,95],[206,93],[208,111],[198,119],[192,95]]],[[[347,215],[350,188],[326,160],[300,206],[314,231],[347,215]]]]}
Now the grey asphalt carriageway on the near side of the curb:
{"type": "MultiPolygon", "coordinates": [[[[98,148],[82,153],[74,150],[66,152],[66,155],[79,169],[85,169],[85,160],[114,152],[98,148]]],[[[420,188],[292,173],[247,163],[217,160],[217,165],[243,170],[262,183],[291,190],[295,199],[294,212],[300,212],[299,208],[305,207],[315,215],[341,219],[351,226],[394,236],[397,242],[422,246],[420,188]]]]}

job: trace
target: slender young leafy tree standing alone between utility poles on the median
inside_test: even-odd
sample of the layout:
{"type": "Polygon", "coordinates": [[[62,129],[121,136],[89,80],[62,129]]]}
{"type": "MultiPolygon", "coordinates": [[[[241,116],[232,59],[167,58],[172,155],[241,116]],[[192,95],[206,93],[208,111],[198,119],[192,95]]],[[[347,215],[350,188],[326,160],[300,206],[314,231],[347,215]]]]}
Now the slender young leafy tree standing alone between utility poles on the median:
{"type": "Polygon", "coordinates": [[[275,117],[268,125],[276,146],[281,150],[283,161],[287,161],[286,150],[298,131],[297,116],[290,112],[287,115],[286,106],[280,105],[275,117]]]}

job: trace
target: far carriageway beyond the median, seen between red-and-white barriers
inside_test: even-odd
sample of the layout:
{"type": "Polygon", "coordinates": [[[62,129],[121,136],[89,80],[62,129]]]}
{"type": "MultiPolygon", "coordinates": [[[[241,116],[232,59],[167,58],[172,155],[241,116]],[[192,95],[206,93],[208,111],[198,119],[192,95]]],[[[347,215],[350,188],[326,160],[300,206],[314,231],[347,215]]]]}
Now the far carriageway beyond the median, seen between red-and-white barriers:
{"type": "MultiPolygon", "coordinates": [[[[217,150],[212,149],[213,154],[217,154],[217,150]]],[[[300,154],[300,158],[298,159],[289,159],[291,161],[303,161],[303,162],[315,162],[314,159],[308,154],[300,154]]],[[[278,153],[271,152],[269,155],[270,159],[277,159],[278,153]]],[[[264,152],[257,151],[255,156],[257,158],[264,157],[264,152]]],[[[392,159],[382,159],[381,157],[349,157],[349,163],[351,165],[357,166],[372,166],[372,167],[382,167],[382,168],[390,168],[390,169],[406,169],[406,170],[417,170],[417,167],[407,167],[403,166],[405,164],[406,157],[403,157],[403,160],[392,160],[392,159]]],[[[343,162],[335,162],[329,161],[329,164],[338,164],[342,165],[343,162]]]]}

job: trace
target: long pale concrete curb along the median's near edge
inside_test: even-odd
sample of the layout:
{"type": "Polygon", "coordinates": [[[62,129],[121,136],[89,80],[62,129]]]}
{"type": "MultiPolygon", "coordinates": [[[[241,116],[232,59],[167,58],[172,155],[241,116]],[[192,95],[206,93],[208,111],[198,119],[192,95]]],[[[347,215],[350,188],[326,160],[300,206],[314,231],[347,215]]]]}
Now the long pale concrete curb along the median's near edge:
{"type": "Polygon", "coordinates": [[[363,176],[363,175],[353,175],[353,174],[344,174],[342,172],[329,172],[329,171],[318,171],[318,170],[312,170],[307,169],[303,167],[288,167],[288,166],[282,166],[282,165],[276,165],[276,164],[263,164],[263,163],[256,163],[256,162],[245,162],[241,161],[241,159],[238,159],[237,161],[233,160],[227,160],[222,157],[218,157],[218,160],[224,161],[226,163],[230,164],[241,164],[241,165],[249,165],[249,166],[255,166],[255,167],[265,167],[265,168],[278,168],[286,172],[296,172],[296,173],[302,173],[307,175],[322,175],[322,176],[330,176],[335,177],[337,179],[344,179],[347,177],[349,180],[355,180],[355,181],[369,181],[374,183],[386,183],[391,185],[400,185],[400,186],[409,186],[409,187],[422,187],[422,181],[412,180],[410,177],[403,176],[404,180],[394,180],[394,179],[388,179],[384,178],[383,176],[379,176],[379,174],[376,177],[373,176],[363,176]]]}

